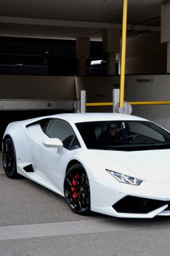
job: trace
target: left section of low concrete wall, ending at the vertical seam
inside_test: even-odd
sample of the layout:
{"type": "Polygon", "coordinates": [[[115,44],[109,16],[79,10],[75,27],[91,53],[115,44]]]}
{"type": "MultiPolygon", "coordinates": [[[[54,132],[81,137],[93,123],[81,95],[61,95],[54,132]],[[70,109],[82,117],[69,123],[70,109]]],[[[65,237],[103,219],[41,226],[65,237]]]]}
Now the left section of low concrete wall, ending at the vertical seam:
{"type": "Polygon", "coordinates": [[[74,76],[0,75],[0,99],[75,100],[74,76]]]}

